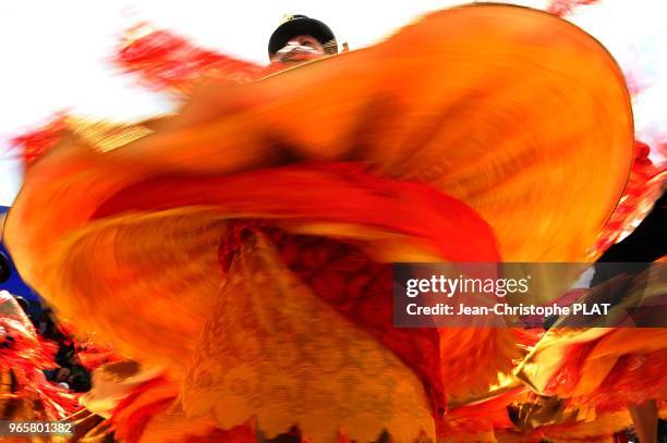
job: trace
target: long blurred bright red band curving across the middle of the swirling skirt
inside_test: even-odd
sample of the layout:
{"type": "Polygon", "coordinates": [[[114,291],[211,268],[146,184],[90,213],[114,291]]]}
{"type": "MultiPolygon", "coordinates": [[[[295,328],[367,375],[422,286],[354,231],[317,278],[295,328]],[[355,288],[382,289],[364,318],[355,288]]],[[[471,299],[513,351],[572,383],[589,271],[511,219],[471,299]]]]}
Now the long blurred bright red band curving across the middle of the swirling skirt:
{"type": "Polygon", "coordinates": [[[426,184],[374,176],[350,163],[149,179],[110,197],[92,219],[196,205],[218,206],[232,216],[378,226],[423,239],[452,261],[500,260],[492,227],[464,202],[426,184]]]}

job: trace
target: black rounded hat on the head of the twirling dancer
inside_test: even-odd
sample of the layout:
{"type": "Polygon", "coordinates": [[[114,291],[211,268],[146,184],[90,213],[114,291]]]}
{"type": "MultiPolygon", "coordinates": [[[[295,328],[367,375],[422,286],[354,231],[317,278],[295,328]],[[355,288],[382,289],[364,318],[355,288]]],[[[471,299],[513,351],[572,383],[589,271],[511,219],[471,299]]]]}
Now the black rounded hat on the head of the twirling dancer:
{"type": "Polygon", "coordinates": [[[338,53],[336,36],[329,26],[305,15],[292,15],[271,34],[268,47],[269,57],[284,48],[288,41],[300,35],[307,35],[317,39],[328,54],[338,53]]]}

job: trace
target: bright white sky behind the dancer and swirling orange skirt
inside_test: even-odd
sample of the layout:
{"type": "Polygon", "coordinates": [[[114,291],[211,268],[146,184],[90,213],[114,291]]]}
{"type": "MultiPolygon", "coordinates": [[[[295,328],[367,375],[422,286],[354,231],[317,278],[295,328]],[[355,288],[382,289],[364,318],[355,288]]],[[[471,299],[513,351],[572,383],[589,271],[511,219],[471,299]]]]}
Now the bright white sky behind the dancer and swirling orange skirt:
{"type": "MultiPolygon", "coordinates": [[[[169,109],[166,97],[136,86],[108,63],[124,29],[140,21],[194,44],[265,63],[283,14],[327,23],[351,49],[372,45],[420,14],[461,1],[0,0],[0,206],[21,185],[8,140],[69,109],[138,119],[169,109]]],[[[547,0],[516,3],[544,8],[547,0]]],[[[648,83],[638,97],[638,132],[667,138],[667,24],[664,0],[603,0],[569,17],[597,37],[620,64],[648,83]]]]}

